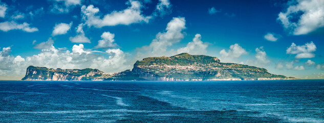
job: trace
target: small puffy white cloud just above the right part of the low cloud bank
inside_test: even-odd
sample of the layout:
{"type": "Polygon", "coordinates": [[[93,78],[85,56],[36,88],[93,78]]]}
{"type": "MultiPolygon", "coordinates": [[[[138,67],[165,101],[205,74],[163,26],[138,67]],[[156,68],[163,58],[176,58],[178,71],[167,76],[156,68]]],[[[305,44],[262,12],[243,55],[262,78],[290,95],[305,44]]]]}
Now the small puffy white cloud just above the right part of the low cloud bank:
{"type": "Polygon", "coordinates": [[[116,47],[117,44],[115,42],[115,34],[110,32],[103,32],[101,35],[101,40],[98,41],[98,45],[95,48],[113,48],[116,47]]]}

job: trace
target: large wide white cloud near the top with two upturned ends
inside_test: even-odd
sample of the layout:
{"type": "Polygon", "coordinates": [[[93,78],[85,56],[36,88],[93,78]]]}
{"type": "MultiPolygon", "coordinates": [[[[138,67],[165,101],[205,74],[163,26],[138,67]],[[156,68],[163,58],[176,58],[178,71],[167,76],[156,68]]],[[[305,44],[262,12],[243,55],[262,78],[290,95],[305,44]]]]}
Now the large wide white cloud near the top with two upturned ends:
{"type": "Polygon", "coordinates": [[[83,14],[83,20],[88,26],[103,27],[103,26],[116,26],[116,25],[130,25],[133,23],[148,22],[151,16],[144,16],[141,13],[142,5],[139,1],[129,1],[126,5],[131,5],[127,9],[122,11],[113,11],[101,17],[99,16],[98,8],[94,8],[93,5],[88,7],[82,6],[81,12],[83,14]]]}

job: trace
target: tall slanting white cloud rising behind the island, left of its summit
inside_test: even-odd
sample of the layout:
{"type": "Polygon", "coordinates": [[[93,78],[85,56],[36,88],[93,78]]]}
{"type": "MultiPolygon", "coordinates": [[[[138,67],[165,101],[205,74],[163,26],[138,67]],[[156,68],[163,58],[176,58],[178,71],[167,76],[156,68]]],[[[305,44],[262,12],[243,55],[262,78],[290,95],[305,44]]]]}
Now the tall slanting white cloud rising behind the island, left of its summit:
{"type": "Polygon", "coordinates": [[[184,37],[183,30],[186,21],[184,17],[174,17],[167,24],[165,32],[159,32],[156,38],[152,40],[149,46],[143,46],[138,49],[137,58],[144,58],[150,56],[160,56],[167,54],[167,47],[180,42],[184,37]]]}

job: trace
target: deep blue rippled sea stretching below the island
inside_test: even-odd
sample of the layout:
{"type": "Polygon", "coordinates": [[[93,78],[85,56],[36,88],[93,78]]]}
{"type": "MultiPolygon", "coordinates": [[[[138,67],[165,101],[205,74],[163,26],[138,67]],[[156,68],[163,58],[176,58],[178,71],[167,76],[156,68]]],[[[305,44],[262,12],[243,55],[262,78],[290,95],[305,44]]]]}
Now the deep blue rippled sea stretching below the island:
{"type": "Polygon", "coordinates": [[[0,81],[0,122],[324,122],[324,80],[0,81]]]}

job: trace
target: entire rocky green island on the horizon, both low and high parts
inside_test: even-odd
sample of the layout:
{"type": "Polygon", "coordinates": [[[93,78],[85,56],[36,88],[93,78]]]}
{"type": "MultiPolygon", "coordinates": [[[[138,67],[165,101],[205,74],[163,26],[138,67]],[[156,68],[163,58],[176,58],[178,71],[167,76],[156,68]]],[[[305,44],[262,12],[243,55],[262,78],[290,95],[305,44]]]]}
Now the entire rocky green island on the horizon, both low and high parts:
{"type": "Polygon", "coordinates": [[[132,70],[104,73],[98,69],[48,69],[29,66],[21,80],[281,80],[296,79],[269,73],[264,68],[221,63],[217,57],[181,53],[138,60],[132,70]]]}

